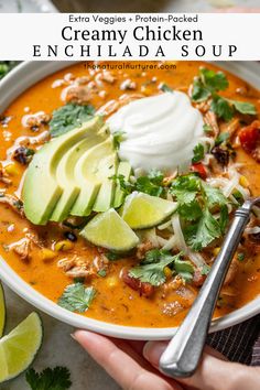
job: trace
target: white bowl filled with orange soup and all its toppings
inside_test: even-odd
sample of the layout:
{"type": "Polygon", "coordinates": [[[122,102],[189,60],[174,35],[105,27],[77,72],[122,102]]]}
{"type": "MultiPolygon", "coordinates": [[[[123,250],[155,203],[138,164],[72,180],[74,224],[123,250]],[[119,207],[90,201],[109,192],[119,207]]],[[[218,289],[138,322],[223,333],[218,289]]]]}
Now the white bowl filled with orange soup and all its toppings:
{"type": "MultiPolygon", "coordinates": [[[[259,86],[254,64],[226,66],[259,86]]],[[[260,189],[259,93],[218,71],[13,71],[1,85],[3,281],[74,326],[170,337],[239,202],[260,189]]],[[[259,312],[258,218],[212,329],[259,312]]]]}

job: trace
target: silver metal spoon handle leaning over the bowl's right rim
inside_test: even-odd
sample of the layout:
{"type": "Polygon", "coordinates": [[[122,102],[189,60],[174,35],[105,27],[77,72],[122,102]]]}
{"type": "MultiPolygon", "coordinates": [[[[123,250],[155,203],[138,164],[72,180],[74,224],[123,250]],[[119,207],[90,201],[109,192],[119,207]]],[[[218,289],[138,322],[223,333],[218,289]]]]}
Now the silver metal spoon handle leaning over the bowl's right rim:
{"type": "Polygon", "coordinates": [[[219,291],[231,259],[239,245],[250,212],[260,197],[251,198],[238,208],[221,249],[192,308],[160,359],[160,370],[170,377],[191,377],[198,364],[219,291]]]}

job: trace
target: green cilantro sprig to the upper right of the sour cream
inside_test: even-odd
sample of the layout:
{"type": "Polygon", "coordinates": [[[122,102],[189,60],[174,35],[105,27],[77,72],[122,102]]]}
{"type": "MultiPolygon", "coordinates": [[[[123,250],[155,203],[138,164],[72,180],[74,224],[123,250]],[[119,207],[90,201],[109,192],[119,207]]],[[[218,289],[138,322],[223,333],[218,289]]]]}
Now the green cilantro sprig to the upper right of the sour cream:
{"type": "Polygon", "coordinates": [[[192,100],[202,102],[212,99],[210,108],[218,118],[229,121],[235,112],[256,115],[257,110],[251,102],[228,99],[218,93],[227,89],[228,80],[223,72],[201,68],[199,75],[194,79],[192,100]]]}

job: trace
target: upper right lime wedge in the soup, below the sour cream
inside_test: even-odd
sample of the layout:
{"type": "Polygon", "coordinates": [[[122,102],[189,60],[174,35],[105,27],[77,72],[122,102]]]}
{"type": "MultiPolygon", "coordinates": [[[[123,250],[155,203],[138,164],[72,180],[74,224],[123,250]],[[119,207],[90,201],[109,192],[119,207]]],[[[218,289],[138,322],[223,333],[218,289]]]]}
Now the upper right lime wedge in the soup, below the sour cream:
{"type": "Polygon", "coordinates": [[[176,202],[133,192],[126,198],[121,216],[132,229],[145,229],[161,224],[176,208],[176,202]]]}

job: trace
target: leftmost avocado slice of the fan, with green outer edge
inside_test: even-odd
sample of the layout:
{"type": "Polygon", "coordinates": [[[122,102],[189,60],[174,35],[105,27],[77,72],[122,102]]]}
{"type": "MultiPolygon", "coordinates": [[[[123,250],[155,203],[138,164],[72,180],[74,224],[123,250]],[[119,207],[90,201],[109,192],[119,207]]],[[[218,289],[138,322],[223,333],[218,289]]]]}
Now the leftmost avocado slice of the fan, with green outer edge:
{"type": "Polygon", "coordinates": [[[80,128],[50,141],[35,153],[26,171],[22,192],[24,213],[31,223],[45,225],[62,195],[56,169],[64,153],[85,137],[97,132],[101,126],[101,118],[95,117],[80,128]]]}

